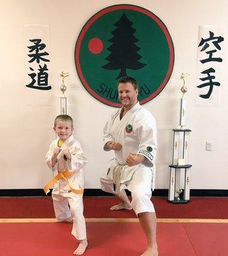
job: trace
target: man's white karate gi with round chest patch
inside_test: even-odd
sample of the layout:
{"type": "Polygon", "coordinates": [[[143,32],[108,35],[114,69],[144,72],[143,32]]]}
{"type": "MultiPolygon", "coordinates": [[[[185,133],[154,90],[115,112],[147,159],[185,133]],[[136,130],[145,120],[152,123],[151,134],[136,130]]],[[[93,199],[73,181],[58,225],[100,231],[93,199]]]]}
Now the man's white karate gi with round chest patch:
{"type": "Polygon", "coordinates": [[[125,187],[132,193],[132,207],[136,214],[140,212],[155,212],[151,198],[152,188],[155,188],[155,157],[156,157],[156,122],[148,110],[137,102],[120,120],[121,109],[115,111],[103,129],[104,150],[109,141],[122,145],[121,150],[115,150],[115,159],[109,162],[105,175],[100,178],[102,190],[114,191],[113,170],[121,166],[120,189],[125,187]],[[146,161],[135,166],[126,165],[126,156],[137,152],[146,157],[146,161]]]}

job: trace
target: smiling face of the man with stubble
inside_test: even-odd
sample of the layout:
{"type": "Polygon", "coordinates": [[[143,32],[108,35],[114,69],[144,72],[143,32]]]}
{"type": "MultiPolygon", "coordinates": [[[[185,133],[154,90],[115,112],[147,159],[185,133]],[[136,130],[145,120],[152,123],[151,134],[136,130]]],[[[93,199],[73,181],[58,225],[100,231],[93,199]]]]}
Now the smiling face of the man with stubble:
{"type": "Polygon", "coordinates": [[[132,83],[119,83],[119,101],[124,108],[131,109],[137,103],[138,89],[134,89],[132,83]]]}

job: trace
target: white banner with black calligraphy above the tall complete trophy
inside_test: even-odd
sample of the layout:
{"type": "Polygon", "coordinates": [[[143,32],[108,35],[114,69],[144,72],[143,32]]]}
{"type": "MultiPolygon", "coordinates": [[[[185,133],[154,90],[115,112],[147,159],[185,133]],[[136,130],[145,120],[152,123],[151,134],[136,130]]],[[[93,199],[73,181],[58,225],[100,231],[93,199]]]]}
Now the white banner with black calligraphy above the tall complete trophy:
{"type": "Polygon", "coordinates": [[[200,26],[197,51],[197,106],[219,106],[224,70],[224,27],[200,26]]]}

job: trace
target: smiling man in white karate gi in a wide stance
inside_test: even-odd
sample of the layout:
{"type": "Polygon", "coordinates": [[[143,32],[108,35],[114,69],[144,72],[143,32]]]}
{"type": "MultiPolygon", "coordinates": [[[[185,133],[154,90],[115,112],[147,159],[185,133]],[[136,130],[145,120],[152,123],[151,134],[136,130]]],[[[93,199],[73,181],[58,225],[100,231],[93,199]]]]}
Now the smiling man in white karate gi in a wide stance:
{"type": "Polygon", "coordinates": [[[156,122],[137,101],[137,82],[124,77],[118,82],[119,100],[123,107],[115,111],[103,129],[104,150],[114,150],[115,159],[100,178],[102,190],[121,199],[111,210],[133,208],[148,246],[141,256],[157,256],[156,214],[151,198],[151,181],[155,185],[156,122]],[[125,188],[132,193],[132,202],[125,188]]]}

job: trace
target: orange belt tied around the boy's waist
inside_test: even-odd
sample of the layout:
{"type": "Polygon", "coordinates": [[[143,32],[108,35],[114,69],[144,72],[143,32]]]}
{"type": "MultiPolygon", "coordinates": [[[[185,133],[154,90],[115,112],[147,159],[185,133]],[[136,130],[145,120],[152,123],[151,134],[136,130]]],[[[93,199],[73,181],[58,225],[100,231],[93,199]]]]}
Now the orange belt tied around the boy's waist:
{"type": "Polygon", "coordinates": [[[51,179],[44,187],[43,190],[45,191],[45,194],[47,195],[47,193],[49,193],[49,189],[51,186],[53,186],[53,184],[55,184],[58,180],[66,180],[66,183],[68,184],[68,186],[70,187],[70,190],[75,193],[75,194],[83,194],[84,189],[75,189],[72,188],[72,186],[70,186],[68,180],[66,178],[70,177],[70,175],[72,175],[75,172],[70,172],[68,170],[64,171],[64,172],[58,172],[59,174],[57,174],[53,179],[51,179]]]}

